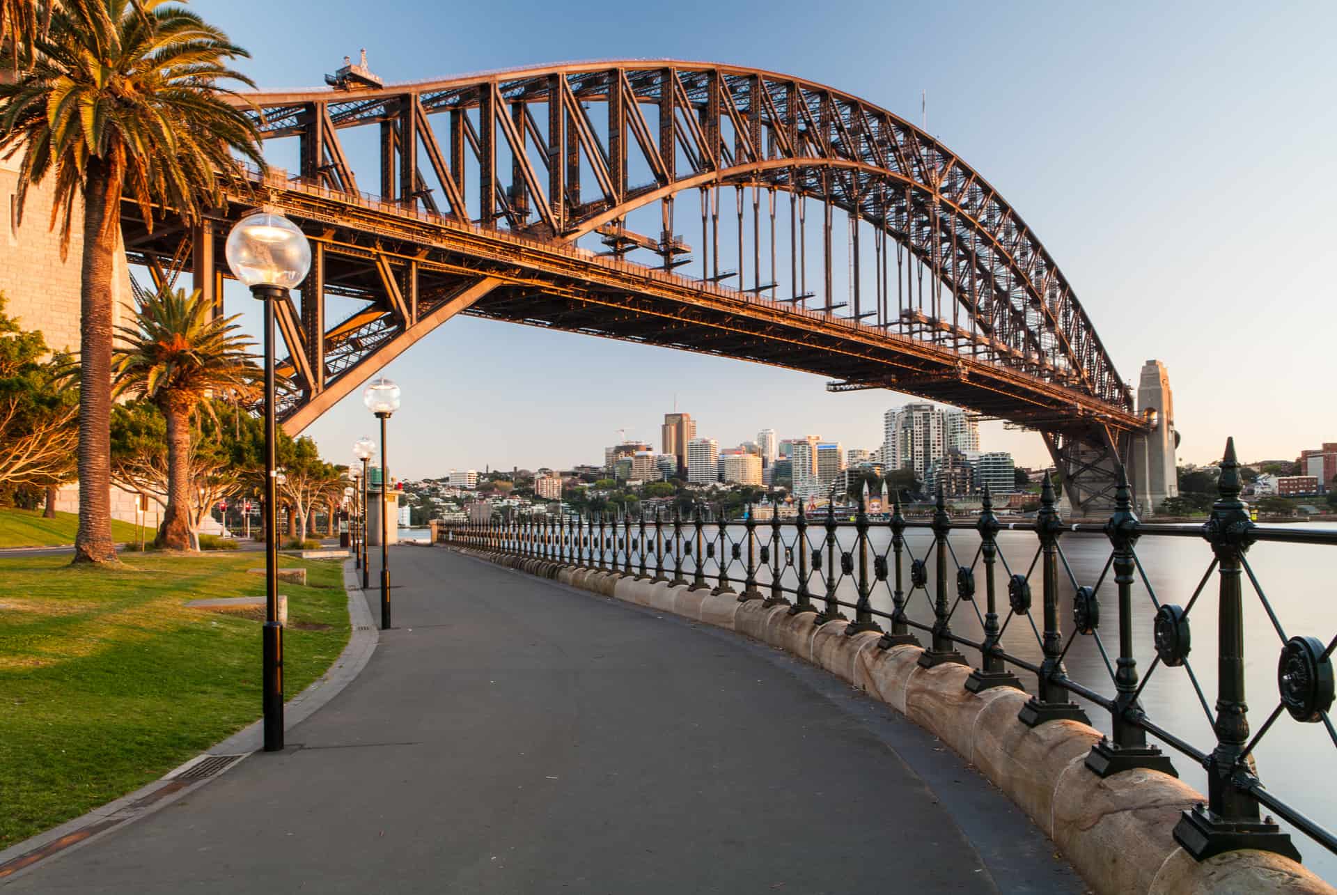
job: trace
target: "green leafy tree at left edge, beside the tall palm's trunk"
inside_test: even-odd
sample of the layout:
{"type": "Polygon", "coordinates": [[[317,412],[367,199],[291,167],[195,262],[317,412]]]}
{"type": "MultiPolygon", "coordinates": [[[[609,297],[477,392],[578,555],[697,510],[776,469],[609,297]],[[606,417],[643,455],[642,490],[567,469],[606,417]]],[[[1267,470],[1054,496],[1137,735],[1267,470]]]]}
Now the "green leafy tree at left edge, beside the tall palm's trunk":
{"type": "Polygon", "coordinates": [[[24,332],[4,305],[0,293],[0,486],[52,488],[74,467],[79,401],[62,376],[67,360],[48,359],[41,333],[24,332]]]}

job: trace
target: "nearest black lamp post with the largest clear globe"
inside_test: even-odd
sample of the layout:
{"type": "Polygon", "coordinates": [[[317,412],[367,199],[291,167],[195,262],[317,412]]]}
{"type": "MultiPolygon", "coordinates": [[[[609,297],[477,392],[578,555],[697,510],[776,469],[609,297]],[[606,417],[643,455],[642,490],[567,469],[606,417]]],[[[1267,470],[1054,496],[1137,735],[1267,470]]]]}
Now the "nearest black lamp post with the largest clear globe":
{"type": "Polygon", "coordinates": [[[274,462],[274,302],[306,278],[312,246],[295,223],[257,211],[237,222],[225,249],[233,276],[265,302],[265,752],[283,748],[283,627],[278,622],[278,483],[274,462]]]}

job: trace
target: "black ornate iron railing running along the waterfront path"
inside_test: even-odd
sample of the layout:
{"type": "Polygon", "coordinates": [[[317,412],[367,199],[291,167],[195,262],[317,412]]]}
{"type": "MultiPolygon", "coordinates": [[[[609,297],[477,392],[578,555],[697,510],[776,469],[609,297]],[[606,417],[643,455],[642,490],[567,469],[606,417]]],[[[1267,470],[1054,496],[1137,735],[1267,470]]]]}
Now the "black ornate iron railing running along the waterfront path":
{"type": "MultiPolygon", "coordinates": [[[[975,522],[953,520],[940,494],[932,516],[921,519],[905,518],[896,503],[885,519],[874,520],[862,499],[852,519],[849,514],[837,518],[833,506],[813,516],[800,506],[789,523],[781,520],[777,507],[771,507],[767,520],[758,520],[749,508],[742,520],[707,522],[698,506],[687,518],[674,511],[671,518],[663,512],[638,518],[595,514],[465,524],[443,528],[440,539],[693,590],[710,589],[715,595],[737,594],[739,601],[761,599],[767,606],[787,605],[790,614],[813,613],[817,623],[845,621],[850,635],[880,633],[880,649],[920,643],[923,637],[923,666],[969,664],[965,650],[977,657],[965,681],[968,690],[1029,690],[1031,698],[1020,713],[1027,725],[1090,722],[1075,698],[1104,713],[1100,726],[1107,733],[1086,760],[1091,773],[1152,768],[1178,776],[1170,756],[1148,742],[1148,736],[1201,765],[1207,803],[1185,811],[1174,831],[1199,860],[1234,848],[1275,851],[1300,860],[1290,835],[1261,809],[1337,852],[1332,817],[1325,824],[1266,788],[1254,761],[1259,742],[1275,736],[1282,718],[1321,728],[1337,748],[1330,717],[1337,637],[1326,642],[1309,635],[1288,637],[1278,605],[1249,561],[1257,542],[1337,547],[1337,531],[1254,524],[1247,504],[1239,500],[1233,441],[1226,445],[1218,488],[1218,500],[1202,526],[1143,523],[1132,510],[1126,480],[1119,484],[1115,512],[1104,524],[1064,523],[1046,480],[1035,520],[1016,523],[1000,522],[985,491],[975,522]],[[1008,551],[999,549],[1004,530],[1009,538],[1015,538],[1011,532],[1034,535],[1028,558],[1016,554],[1013,542],[1011,561],[1008,551]],[[1087,535],[1087,544],[1091,535],[1107,542],[1099,573],[1091,563],[1070,562],[1062,544],[1068,534],[1087,535]],[[1183,602],[1169,602],[1152,586],[1139,544],[1182,543],[1175,550],[1182,557],[1194,540],[1207,543],[1210,559],[1191,594],[1183,602]],[[1217,617],[1203,619],[1213,591],[1217,617]],[[1112,613],[1107,602],[1112,602],[1112,613]],[[1154,658],[1139,674],[1136,654],[1147,650],[1135,637],[1135,627],[1139,621],[1146,627],[1147,610],[1154,610],[1154,658]],[[1067,633],[1063,615],[1071,619],[1067,633]],[[979,635],[953,630],[953,621],[964,627],[964,618],[977,622],[979,635]],[[1251,619],[1247,638],[1246,618],[1251,619]],[[1106,642],[1104,619],[1114,626],[1111,643],[1106,642]],[[1194,637],[1195,626],[1207,637],[1194,637]],[[1278,690],[1262,725],[1250,730],[1245,645],[1253,642],[1257,648],[1254,635],[1261,626],[1270,627],[1281,646],[1278,690]],[[1203,672],[1199,676],[1190,653],[1194,648],[1210,649],[1211,633],[1217,642],[1215,672],[1213,676],[1210,669],[1198,669],[1203,672]],[[1079,682],[1068,676],[1064,660],[1079,638],[1095,643],[1107,680],[1102,674],[1079,682]],[[1191,726],[1183,718],[1158,718],[1144,708],[1147,682],[1158,673],[1182,673],[1187,678],[1186,689],[1191,689],[1210,726],[1210,741],[1195,744],[1195,734],[1183,729],[1191,726]],[[1214,705],[1203,684],[1206,680],[1210,686],[1213,677],[1214,705]]],[[[1329,565],[1333,557],[1337,554],[1324,554],[1329,565]]],[[[1312,613],[1306,621],[1313,623],[1312,613]]],[[[1140,634],[1144,638],[1147,631],[1140,634]]]]}

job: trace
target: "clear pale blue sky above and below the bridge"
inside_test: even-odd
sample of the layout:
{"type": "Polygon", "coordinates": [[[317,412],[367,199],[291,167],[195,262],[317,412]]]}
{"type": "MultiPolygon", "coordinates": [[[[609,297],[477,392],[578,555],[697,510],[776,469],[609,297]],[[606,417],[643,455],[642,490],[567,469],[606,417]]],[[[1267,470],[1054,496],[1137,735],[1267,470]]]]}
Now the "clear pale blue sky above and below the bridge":
{"type": "MultiPolygon", "coordinates": [[[[813,79],[916,122],[927,91],[928,130],[1038,233],[1120,375],[1167,365],[1181,460],[1219,458],[1227,435],[1247,459],[1337,440],[1334,4],[190,5],[253,54],[242,68],[261,87],[321,84],[365,47],[389,83],[677,58],[813,79]]],[[[229,310],[246,301],[229,292],[229,310]]],[[[404,387],[390,459],[408,478],[596,463],[619,428],[658,447],[675,403],[722,445],[769,427],[874,448],[882,412],[913,400],[468,318],[386,372],[404,387]]],[[[373,423],[358,392],[308,433],[346,462],[373,423]]],[[[983,443],[1048,463],[1035,433],[987,423],[983,443]]]]}

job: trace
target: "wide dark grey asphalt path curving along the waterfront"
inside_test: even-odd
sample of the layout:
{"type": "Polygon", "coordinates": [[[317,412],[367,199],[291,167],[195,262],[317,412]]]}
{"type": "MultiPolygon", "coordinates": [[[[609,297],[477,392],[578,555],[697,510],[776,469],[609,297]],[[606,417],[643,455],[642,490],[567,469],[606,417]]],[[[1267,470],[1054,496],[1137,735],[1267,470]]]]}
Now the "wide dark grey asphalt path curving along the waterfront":
{"type": "Polygon", "coordinates": [[[398,626],[287,751],[12,890],[1084,890],[983,777],[820,669],[440,549],[392,569],[398,626]]]}

